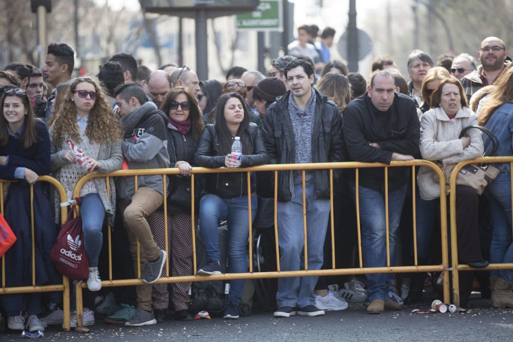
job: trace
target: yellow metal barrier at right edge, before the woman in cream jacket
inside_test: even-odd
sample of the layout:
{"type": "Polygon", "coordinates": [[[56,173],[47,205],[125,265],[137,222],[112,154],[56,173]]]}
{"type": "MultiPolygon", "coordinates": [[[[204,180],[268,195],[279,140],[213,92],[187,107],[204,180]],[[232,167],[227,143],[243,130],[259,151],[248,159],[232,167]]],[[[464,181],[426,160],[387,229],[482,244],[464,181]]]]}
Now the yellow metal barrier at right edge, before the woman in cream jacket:
{"type": "MultiPolygon", "coordinates": [[[[486,268],[472,268],[468,265],[460,265],[458,263],[458,233],[456,226],[456,177],[459,171],[469,164],[480,164],[480,163],[510,163],[510,167],[513,170],[513,157],[481,157],[471,160],[465,160],[465,162],[458,163],[451,171],[449,178],[450,190],[450,238],[451,238],[451,261],[452,261],[452,291],[453,291],[453,302],[455,305],[460,305],[460,286],[459,286],[459,271],[482,271],[482,270],[508,270],[513,269],[513,264],[490,264],[486,268]]],[[[510,174],[511,184],[513,184],[513,173],[510,174]]],[[[513,187],[511,188],[511,195],[513,197],[513,187]]]]}

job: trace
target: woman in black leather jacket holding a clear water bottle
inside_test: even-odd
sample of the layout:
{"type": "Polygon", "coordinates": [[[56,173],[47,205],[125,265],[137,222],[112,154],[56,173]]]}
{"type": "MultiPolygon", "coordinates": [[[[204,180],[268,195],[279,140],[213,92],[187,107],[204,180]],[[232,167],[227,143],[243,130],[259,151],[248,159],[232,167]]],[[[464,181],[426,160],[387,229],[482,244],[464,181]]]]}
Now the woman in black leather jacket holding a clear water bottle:
{"type": "MultiPolygon", "coordinates": [[[[203,130],[196,165],[208,168],[251,167],[266,164],[269,156],[257,125],[249,122],[244,98],[238,93],[220,97],[215,108],[215,125],[203,130]],[[242,156],[239,161],[231,154],[234,138],[240,137],[242,156]]],[[[248,270],[246,247],[248,244],[248,179],[245,172],[207,174],[206,192],[200,201],[200,236],[205,245],[208,263],[198,274],[220,274],[221,256],[218,243],[219,220],[228,221],[228,258],[230,273],[248,270]]],[[[251,219],[257,213],[256,184],[251,182],[251,219]]],[[[230,293],[224,312],[225,319],[239,318],[239,305],[244,280],[230,281],[230,293]]]]}

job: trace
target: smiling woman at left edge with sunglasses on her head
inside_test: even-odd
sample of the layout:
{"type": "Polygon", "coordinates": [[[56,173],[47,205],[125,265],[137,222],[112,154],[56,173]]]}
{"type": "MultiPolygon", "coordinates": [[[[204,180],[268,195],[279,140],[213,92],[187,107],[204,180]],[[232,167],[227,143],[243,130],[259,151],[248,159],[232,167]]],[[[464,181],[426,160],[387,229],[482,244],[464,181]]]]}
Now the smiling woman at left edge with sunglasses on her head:
{"type": "MultiPolygon", "coordinates": [[[[62,276],[50,261],[55,243],[50,202],[36,183],[50,172],[50,137],[42,120],[34,118],[27,92],[19,88],[3,90],[0,116],[0,178],[18,180],[9,184],[5,220],[17,241],[5,254],[6,286],[32,286],[32,233],[30,187],[33,185],[35,285],[58,284],[62,276]]],[[[7,185],[4,184],[4,187],[7,185]]],[[[5,189],[5,188],[4,188],[5,189]]],[[[3,295],[2,303],[13,330],[45,330],[41,313],[41,293],[3,295]],[[27,303],[28,318],[21,315],[27,303]]],[[[57,295],[58,297],[58,295],[57,295]]]]}

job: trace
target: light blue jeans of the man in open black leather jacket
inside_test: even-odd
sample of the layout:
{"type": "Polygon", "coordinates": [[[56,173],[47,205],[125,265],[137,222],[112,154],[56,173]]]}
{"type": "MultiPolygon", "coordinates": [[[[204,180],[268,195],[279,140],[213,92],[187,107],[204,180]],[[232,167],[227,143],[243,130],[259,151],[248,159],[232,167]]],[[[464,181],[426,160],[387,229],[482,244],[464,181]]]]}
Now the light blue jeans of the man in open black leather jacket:
{"type": "MultiPolygon", "coordinates": [[[[305,185],[306,238],[308,269],[320,270],[324,260],[324,238],[328,227],[329,199],[314,199],[314,185],[305,185]]],[[[294,198],[278,202],[278,242],[280,245],[280,270],[298,271],[305,269],[303,188],[294,185],[294,198]]],[[[279,307],[303,308],[315,305],[313,289],[319,277],[278,278],[276,300],[279,307]]]]}

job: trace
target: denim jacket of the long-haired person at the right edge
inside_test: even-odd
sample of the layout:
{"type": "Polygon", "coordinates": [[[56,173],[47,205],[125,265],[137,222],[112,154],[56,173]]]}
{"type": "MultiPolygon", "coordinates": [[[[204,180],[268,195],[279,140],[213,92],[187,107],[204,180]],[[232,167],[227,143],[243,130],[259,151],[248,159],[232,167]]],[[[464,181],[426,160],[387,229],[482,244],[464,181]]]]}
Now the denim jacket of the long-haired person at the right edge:
{"type": "MultiPolygon", "coordinates": [[[[490,115],[488,121],[484,125],[499,140],[499,148],[494,156],[511,156],[513,155],[513,103],[505,103],[490,115]]],[[[491,140],[483,134],[484,150],[486,155],[491,151],[491,140]]],[[[497,163],[495,166],[502,172],[510,172],[509,163],[497,163]]]]}

